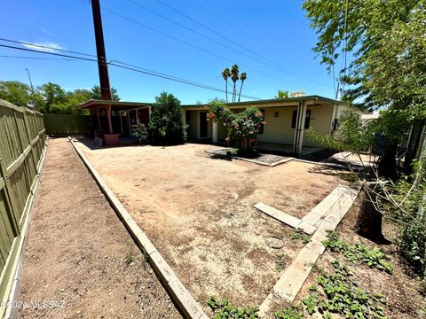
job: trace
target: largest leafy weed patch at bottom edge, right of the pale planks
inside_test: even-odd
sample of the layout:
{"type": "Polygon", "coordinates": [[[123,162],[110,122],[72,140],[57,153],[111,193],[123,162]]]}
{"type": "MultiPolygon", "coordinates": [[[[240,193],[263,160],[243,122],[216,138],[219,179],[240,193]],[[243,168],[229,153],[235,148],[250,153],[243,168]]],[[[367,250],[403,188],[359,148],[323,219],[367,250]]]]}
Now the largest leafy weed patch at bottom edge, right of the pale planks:
{"type": "Polygon", "coordinates": [[[318,276],[318,285],[312,285],[310,296],[302,300],[308,313],[318,311],[324,318],[333,318],[332,314],[344,318],[386,318],[383,295],[360,288],[351,277],[350,268],[339,261],[332,264],[335,272],[318,276]]]}

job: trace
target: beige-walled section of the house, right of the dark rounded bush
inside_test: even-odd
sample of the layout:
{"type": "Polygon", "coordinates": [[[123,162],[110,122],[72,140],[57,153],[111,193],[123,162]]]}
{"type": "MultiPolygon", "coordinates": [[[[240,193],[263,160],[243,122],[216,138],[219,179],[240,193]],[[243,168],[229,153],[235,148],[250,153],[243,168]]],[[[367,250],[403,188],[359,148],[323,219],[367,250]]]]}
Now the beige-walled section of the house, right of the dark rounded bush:
{"type": "MultiPolygon", "coordinates": [[[[338,129],[338,119],[346,111],[361,114],[361,111],[342,101],[327,97],[305,96],[253,102],[229,103],[234,112],[241,112],[248,106],[256,106],[264,113],[264,125],[257,140],[264,144],[282,144],[292,147],[295,154],[303,147],[320,145],[304,136],[307,128],[314,128],[319,134],[328,135],[338,129]],[[304,114],[304,116],[302,116],[304,114]]],[[[188,125],[189,140],[211,140],[220,142],[226,137],[226,128],[221,122],[207,121],[206,105],[182,105],[184,121],[188,125]]]]}

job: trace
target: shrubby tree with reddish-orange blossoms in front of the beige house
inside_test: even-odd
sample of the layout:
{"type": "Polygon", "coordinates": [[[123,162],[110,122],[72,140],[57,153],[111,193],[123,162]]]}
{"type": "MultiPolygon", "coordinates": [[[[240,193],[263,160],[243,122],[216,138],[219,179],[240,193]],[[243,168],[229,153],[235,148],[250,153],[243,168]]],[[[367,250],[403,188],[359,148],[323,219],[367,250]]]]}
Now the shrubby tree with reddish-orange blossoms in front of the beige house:
{"type": "Polygon", "coordinates": [[[208,119],[223,121],[228,128],[228,138],[233,141],[241,154],[251,151],[250,141],[255,139],[264,122],[264,115],[255,106],[241,113],[233,113],[223,101],[214,99],[209,102],[208,119]]]}

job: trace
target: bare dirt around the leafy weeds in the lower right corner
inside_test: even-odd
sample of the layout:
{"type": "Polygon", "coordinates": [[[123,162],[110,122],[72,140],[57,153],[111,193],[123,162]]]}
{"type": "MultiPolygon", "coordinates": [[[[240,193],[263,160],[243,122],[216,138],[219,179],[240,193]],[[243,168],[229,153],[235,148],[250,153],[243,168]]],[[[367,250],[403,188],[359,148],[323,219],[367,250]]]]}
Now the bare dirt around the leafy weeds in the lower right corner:
{"type": "Polygon", "coordinates": [[[388,318],[426,318],[426,314],[422,312],[422,308],[426,307],[422,284],[414,276],[410,268],[406,266],[403,259],[398,256],[398,247],[396,245],[398,226],[394,222],[383,220],[383,235],[390,240],[390,245],[377,245],[364,237],[360,237],[354,232],[359,212],[359,203],[358,198],[336,231],[341,239],[350,244],[361,242],[370,247],[381,248],[383,252],[390,255],[393,265],[392,273],[388,274],[376,268],[369,268],[363,264],[353,265],[350,261],[344,259],[342,253],[326,251],[319,261],[317,261],[316,267],[313,268],[308,280],[304,283],[304,287],[299,292],[295,303],[299,303],[309,295],[309,287],[312,284],[316,284],[316,277],[319,276],[319,270],[332,270],[331,261],[337,259],[351,268],[354,278],[361,288],[368,292],[383,293],[383,296],[387,300],[387,304],[383,308],[388,318]]]}

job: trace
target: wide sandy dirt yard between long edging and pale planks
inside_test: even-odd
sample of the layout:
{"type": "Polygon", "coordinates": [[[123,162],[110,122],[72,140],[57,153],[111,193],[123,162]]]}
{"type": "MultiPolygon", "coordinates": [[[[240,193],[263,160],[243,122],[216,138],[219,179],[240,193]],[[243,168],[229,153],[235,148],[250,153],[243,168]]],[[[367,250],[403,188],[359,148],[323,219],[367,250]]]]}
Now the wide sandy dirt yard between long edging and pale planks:
{"type": "Polygon", "coordinates": [[[280,278],[277,260],[288,264],[303,247],[254,204],[302,217],[339,183],[338,172],[311,164],[214,159],[204,152],[212,145],[84,143],[79,147],[205,309],[210,295],[259,306],[280,278]],[[271,248],[268,237],[280,237],[283,247],[271,248]]]}

